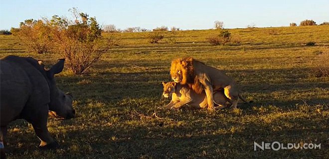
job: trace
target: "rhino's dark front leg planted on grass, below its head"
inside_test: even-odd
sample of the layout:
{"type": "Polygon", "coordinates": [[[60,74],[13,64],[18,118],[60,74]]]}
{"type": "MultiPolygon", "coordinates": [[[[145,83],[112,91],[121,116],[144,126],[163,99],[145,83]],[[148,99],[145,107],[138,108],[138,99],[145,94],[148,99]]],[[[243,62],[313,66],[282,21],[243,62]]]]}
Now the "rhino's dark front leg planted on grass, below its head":
{"type": "Polygon", "coordinates": [[[31,120],[36,136],[41,140],[40,149],[56,149],[58,143],[50,136],[47,128],[48,110],[40,113],[37,119],[31,120]]]}

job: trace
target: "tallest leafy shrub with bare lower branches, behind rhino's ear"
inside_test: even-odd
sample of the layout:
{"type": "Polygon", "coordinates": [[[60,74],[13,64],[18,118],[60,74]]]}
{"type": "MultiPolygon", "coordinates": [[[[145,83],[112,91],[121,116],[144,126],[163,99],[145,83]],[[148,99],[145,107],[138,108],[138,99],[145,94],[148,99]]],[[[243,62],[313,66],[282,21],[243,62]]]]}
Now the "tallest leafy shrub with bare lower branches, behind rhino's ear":
{"type": "Polygon", "coordinates": [[[67,59],[74,75],[86,74],[90,67],[115,43],[113,38],[104,38],[95,17],[70,10],[76,15],[74,21],[57,15],[48,21],[51,27],[56,52],[67,59]],[[79,18],[79,19],[78,19],[79,18]]]}

